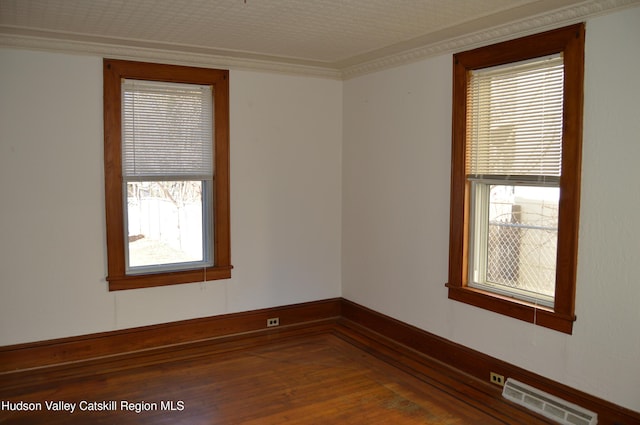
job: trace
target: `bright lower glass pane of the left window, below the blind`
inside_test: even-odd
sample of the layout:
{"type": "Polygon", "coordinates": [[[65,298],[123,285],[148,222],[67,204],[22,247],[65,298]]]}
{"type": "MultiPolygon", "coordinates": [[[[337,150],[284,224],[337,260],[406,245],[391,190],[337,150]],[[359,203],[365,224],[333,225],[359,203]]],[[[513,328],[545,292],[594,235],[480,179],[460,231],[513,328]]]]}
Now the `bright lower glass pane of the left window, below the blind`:
{"type": "Polygon", "coordinates": [[[127,183],[128,267],[203,262],[203,182],[127,183]]]}

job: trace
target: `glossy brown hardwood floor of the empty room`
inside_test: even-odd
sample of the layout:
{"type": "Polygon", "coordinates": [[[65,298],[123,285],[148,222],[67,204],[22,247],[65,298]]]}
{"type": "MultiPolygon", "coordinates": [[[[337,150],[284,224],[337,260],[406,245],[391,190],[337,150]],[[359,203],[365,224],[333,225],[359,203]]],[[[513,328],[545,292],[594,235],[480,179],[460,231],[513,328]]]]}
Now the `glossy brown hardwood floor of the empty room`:
{"type": "Polygon", "coordinates": [[[497,394],[366,330],[326,322],[5,373],[0,423],[548,423],[497,394]],[[54,411],[51,401],[75,410],[54,411]],[[18,402],[41,410],[12,410],[18,402]],[[109,410],[88,410],[100,407],[109,410]]]}

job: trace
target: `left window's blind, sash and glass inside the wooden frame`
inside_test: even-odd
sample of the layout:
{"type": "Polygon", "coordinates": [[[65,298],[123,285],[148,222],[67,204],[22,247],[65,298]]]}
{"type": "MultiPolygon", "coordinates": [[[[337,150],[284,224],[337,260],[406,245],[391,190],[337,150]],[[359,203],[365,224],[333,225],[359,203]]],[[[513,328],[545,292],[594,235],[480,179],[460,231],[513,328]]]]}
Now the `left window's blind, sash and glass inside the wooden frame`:
{"type": "Polygon", "coordinates": [[[122,81],[127,273],[212,265],[211,86],[122,81]]]}

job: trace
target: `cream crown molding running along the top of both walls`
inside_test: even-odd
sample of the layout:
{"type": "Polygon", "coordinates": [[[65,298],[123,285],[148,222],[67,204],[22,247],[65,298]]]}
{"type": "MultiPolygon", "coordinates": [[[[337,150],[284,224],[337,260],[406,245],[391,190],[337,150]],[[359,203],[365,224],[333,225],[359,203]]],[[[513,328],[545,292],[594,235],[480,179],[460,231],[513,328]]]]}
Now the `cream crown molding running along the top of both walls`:
{"type": "Polygon", "coordinates": [[[69,35],[42,31],[24,31],[0,26],[0,46],[95,55],[113,59],[144,60],[180,65],[268,71],[327,79],[348,80],[361,75],[417,62],[436,55],[496,43],[536,32],[575,24],[613,10],[640,4],[640,0],[588,0],[548,13],[513,21],[504,25],[447,37],[420,47],[363,60],[353,65],[296,61],[290,58],[260,56],[242,52],[225,52],[163,44],[136,45],[127,40],[70,38],[69,35]]]}

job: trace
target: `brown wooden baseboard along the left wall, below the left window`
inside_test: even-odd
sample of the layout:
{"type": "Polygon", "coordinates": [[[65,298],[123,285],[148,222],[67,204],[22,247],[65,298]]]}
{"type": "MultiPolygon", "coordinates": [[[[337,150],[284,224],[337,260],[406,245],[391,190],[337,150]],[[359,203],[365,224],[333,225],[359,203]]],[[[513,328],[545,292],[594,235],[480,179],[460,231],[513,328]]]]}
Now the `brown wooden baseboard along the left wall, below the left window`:
{"type": "Polygon", "coordinates": [[[7,372],[117,356],[160,347],[182,345],[247,332],[277,332],[287,326],[334,320],[339,298],[313,301],[201,319],[102,332],[0,347],[0,375],[7,372]],[[267,319],[278,317],[278,328],[267,319]]]}

